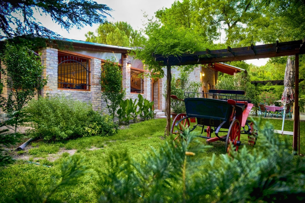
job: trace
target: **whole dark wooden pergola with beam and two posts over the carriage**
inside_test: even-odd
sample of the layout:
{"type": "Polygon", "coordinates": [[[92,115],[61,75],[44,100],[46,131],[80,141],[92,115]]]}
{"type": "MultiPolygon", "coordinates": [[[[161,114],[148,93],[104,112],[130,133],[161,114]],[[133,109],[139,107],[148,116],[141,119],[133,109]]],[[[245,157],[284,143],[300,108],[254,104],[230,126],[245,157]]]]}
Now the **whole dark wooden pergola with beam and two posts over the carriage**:
{"type": "MultiPolygon", "coordinates": [[[[209,64],[218,62],[242,61],[249,59],[272,58],[278,56],[295,55],[295,119],[293,125],[293,143],[294,151],[298,149],[298,126],[300,122],[299,112],[299,55],[305,54],[305,38],[296,41],[278,42],[266,45],[253,45],[247,47],[217,49],[195,52],[192,54],[185,53],[181,56],[163,56],[152,53],[155,60],[160,66],[167,66],[167,80],[171,78],[171,66],[209,64]]],[[[167,81],[170,86],[170,82],[167,81]]],[[[168,92],[167,92],[168,93],[168,92]]],[[[167,119],[170,121],[170,97],[167,96],[167,119]]],[[[167,126],[169,132],[169,126],[167,126]]],[[[300,137],[299,137],[300,139],[300,137]]],[[[300,141],[299,141],[300,144],[300,141]]],[[[299,147],[300,148],[300,147],[299,147]]]]}

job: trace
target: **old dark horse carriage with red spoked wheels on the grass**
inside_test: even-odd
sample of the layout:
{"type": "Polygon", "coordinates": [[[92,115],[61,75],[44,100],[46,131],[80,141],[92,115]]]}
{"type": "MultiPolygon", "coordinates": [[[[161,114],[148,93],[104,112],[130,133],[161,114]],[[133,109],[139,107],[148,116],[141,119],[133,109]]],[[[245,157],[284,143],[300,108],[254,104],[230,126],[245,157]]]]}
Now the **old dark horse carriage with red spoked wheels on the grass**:
{"type": "Polygon", "coordinates": [[[185,102],[185,113],[178,114],[172,123],[171,133],[177,134],[174,141],[182,139],[180,133],[190,123],[196,123],[190,131],[196,127],[201,127],[201,134],[198,137],[205,138],[206,143],[215,141],[225,142],[226,152],[229,153],[233,144],[235,151],[242,145],[240,134],[248,135],[248,143],[254,146],[257,140],[257,131],[253,123],[248,120],[249,113],[253,107],[249,98],[245,96],[245,91],[237,90],[209,90],[209,93],[192,93],[186,92],[185,99],[179,99],[171,95],[172,99],[185,102]],[[200,94],[201,97],[191,97],[200,94]],[[205,128],[206,126],[206,128],[205,128]],[[224,131],[221,129],[228,129],[224,131]],[[203,136],[203,131],[206,136],[203,136]],[[215,132],[216,137],[212,137],[215,132]],[[218,135],[219,132],[227,133],[224,136],[218,135]]]}

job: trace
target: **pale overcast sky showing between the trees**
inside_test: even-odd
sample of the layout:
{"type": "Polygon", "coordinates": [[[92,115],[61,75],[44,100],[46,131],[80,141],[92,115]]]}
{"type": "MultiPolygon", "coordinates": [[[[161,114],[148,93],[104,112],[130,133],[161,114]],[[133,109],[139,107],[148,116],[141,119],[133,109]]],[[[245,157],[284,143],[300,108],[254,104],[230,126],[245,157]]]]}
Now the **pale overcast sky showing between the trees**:
{"type": "MultiPolygon", "coordinates": [[[[139,30],[144,28],[143,22],[145,22],[144,13],[149,17],[154,16],[154,13],[161,8],[169,8],[174,0],[96,0],[100,4],[106,4],[113,11],[110,12],[110,16],[107,17],[108,21],[125,21],[131,25],[133,29],[139,30]]],[[[69,30],[62,29],[59,25],[52,22],[50,16],[40,16],[38,13],[34,15],[43,26],[55,31],[64,38],[74,40],[86,40],[85,33],[88,31],[95,31],[98,28],[98,24],[94,24],[92,27],[85,26],[80,30],[72,28],[69,30]]],[[[223,38],[225,36],[221,36],[223,38]]],[[[218,41],[217,41],[218,42],[218,41]]],[[[259,43],[257,43],[259,45],[259,43]]],[[[253,59],[246,60],[247,63],[253,63],[256,66],[263,66],[268,59],[253,59]]]]}

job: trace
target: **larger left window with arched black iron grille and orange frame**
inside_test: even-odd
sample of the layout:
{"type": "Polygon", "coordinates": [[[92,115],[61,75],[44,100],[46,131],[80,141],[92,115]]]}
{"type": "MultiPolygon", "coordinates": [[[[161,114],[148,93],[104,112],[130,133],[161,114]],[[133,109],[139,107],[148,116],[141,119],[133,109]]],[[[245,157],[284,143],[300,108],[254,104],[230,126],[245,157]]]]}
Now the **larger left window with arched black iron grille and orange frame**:
{"type": "Polygon", "coordinates": [[[89,60],[58,54],[58,88],[90,90],[89,60]]]}

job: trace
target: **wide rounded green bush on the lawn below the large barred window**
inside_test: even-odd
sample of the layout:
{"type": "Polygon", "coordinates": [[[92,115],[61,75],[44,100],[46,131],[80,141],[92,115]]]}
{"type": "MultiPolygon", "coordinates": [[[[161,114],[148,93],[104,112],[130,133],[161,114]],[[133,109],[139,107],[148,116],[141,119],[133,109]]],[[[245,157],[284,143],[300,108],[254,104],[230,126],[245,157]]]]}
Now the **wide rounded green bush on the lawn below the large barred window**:
{"type": "Polygon", "coordinates": [[[113,135],[116,125],[110,116],[101,116],[85,102],[56,95],[32,100],[25,108],[33,127],[32,137],[64,140],[81,136],[113,135]]]}

